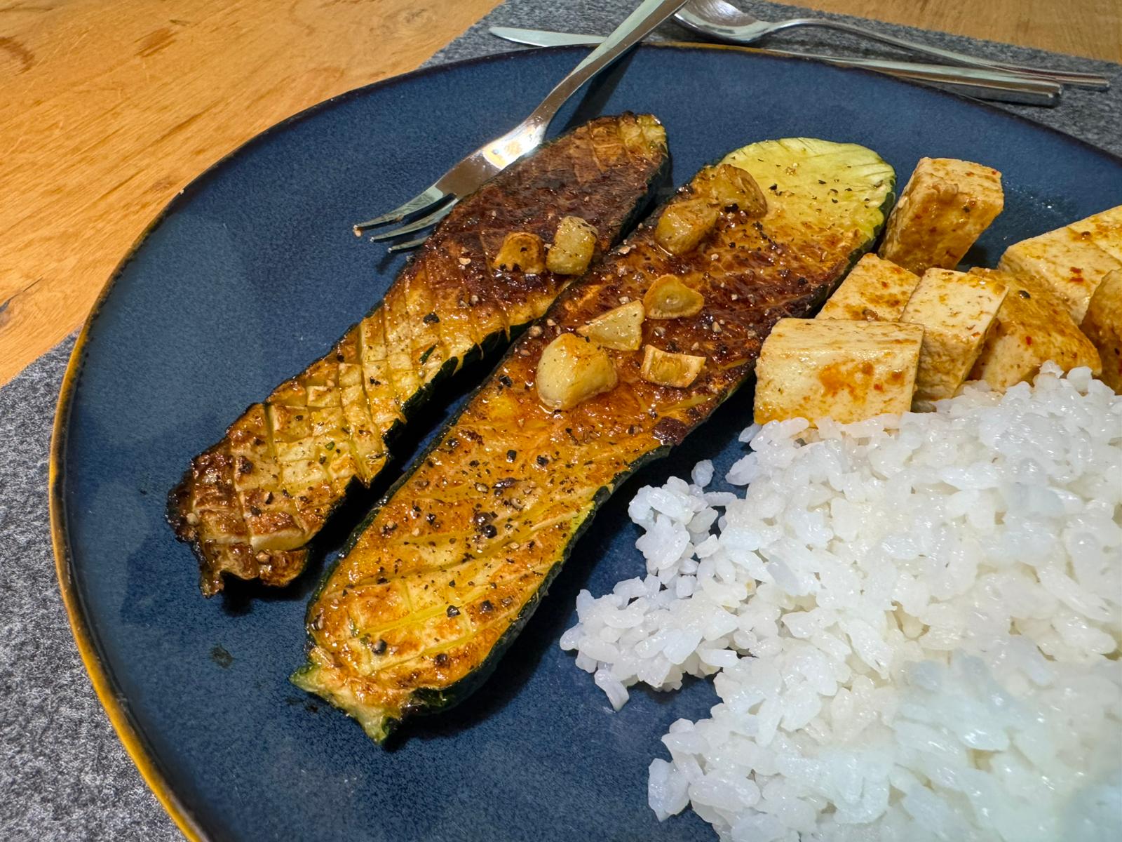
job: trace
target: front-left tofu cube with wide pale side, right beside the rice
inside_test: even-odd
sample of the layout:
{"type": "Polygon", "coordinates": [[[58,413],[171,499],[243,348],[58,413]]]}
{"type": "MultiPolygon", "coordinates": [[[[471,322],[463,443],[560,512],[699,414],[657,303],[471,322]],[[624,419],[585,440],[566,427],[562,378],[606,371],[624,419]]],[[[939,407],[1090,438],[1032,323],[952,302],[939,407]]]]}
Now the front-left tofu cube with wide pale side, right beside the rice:
{"type": "Polygon", "coordinates": [[[756,423],[907,412],[922,339],[917,324],[781,319],[756,364],[756,423]]]}

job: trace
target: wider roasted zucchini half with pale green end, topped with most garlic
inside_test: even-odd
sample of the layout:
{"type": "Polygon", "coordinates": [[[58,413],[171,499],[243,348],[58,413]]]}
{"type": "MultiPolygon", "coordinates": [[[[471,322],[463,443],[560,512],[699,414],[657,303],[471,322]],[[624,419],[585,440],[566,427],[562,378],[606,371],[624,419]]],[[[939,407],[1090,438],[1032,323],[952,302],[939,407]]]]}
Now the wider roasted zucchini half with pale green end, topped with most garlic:
{"type": "Polygon", "coordinates": [[[321,585],[307,613],[309,661],[293,680],[375,740],[478,686],[597,506],[748,379],[772,326],[821,303],[873,242],[892,201],[892,168],[861,146],[763,141],[724,163],[754,176],[765,216],[729,205],[707,216],[698,199],[707,171],[682,187],[518,340],[321,585]],[[691,219],[708,226],[700,240],[691,219]],[[666,289],[644,305],[657,300],[671,312],[651,318],[649,309],[642,348],[594,342],[631,329],[642,318],[632,318],[633,302],[665,275],[696,291],[700,310],[662,281],[666,289]],[[586,329],[609,312],[620,314],[607,320],[615,332],[604,320],[586,329]],[[543,405],[535,377],[585,353],[598,360],[585,370],[599,377],[600,393],[569,405],[572,390],[562,388],[553,405],[568,409],[543,405]],[[672,363],[669,375],[651,374],[665,368],[652,356],[672,363]]]}

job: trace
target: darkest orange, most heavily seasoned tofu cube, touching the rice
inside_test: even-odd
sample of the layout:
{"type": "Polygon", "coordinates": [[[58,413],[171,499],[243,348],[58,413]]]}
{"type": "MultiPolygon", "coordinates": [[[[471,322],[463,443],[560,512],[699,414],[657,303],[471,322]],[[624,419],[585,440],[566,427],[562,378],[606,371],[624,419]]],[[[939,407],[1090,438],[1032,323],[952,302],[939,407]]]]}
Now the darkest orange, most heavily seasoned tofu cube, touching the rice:
{"type": "Polygon", "coordinates": [[[1031,381],[1049,359],[1065,372],[1078,366],[1094,374],[1102,370],[1095,346],[1047,284],[996,269],[971,269],[971,274],[991,277],[1009,290],[971,370],[972,381],[1003,391],[1031,381]]]}

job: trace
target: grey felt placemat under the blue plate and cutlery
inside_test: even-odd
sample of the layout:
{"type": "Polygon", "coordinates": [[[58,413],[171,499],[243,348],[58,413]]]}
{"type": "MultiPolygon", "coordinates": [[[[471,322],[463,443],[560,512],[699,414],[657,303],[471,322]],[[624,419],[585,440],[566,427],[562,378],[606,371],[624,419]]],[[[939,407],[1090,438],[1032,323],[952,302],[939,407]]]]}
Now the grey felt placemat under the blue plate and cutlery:
{"type": "MultiPolygon", "coordinates": [[[[502,24],[605,34],[635,0],[512,0],[430,61],[516,49],[487,34],[502,24]]],[[[766,2],[739,6],[762,18],[804,9],[766,2]]],[[[840,17],[840,16],[836,16],[840,17]]],[[[866,21],[867,22],[867,21],[866,21]]],[[[1069,90],[1056,109],[1008,107],[1122,154],[1122,65],[980,42],[908,27],[868,26],[975,55],[1110,76],[1110,93],[1069,90]]],[[[692,39],[666,25],[660,35],[692,39]]],[[[826,30],[782,37],[807,52],[879,54],[826,30]]],[[[55,400],[73,337],[0,390],[0,840],[176,840],[172,821],[148,791],[94,697],[71,638],[55,584],[47,527],[47,448],[55,400]]]]}

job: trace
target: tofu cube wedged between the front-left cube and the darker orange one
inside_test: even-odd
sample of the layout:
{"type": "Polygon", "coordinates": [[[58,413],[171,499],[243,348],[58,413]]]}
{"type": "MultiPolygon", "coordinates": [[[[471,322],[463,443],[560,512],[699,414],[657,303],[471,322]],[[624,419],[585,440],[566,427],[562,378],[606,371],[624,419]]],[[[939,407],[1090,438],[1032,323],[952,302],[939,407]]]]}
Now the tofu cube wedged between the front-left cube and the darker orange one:
{"type": "Polygon", "coordinates": [[[982,275],[928,269],[900,321],[923,327],[923,349],[912,408],[929,412],[953,397],[982,353],[994,317],[1005,300],[1005,285],[982,275]]]}

